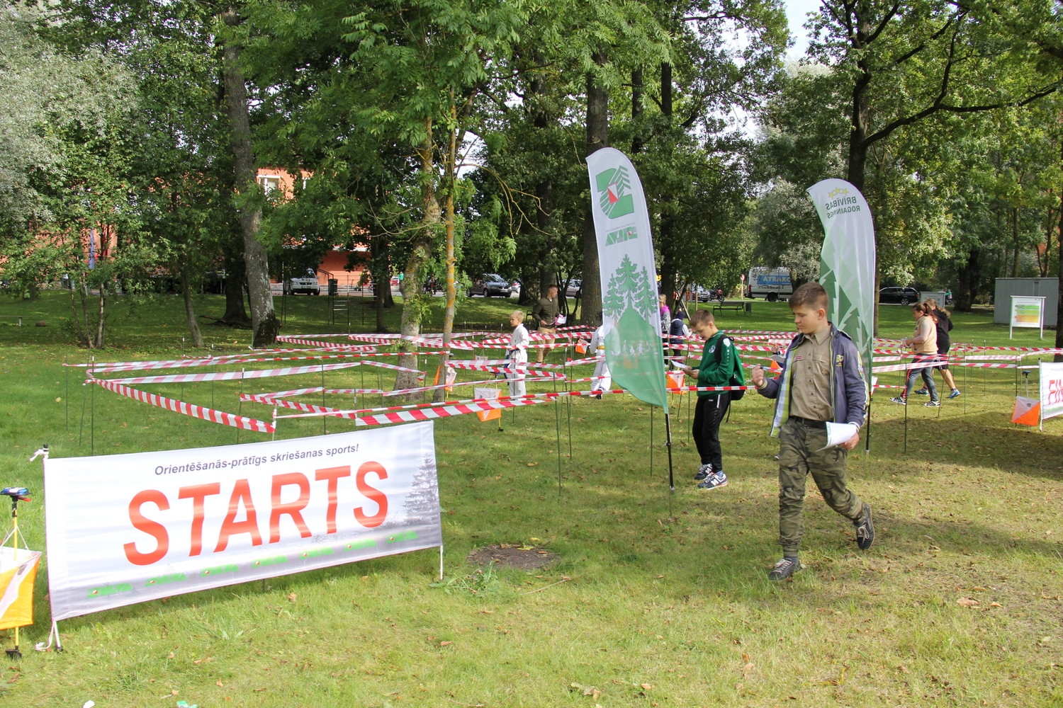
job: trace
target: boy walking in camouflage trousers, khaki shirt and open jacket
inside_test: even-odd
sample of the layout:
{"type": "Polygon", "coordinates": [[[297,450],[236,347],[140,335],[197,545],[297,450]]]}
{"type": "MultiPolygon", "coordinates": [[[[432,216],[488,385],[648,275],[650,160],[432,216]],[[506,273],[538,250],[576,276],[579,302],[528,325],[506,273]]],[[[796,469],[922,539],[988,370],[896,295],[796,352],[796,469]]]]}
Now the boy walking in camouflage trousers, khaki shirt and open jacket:
{"type": "Polygon", "coordinates": [[[860,442],[867,400],[860,352],[853,340],[827,321],[827,291],[806,282],[790,297],[797,335],[776,378],[759,366],[753,383],[761,396],[777,399],[772,436],[779,438],[779,543],[782,559],[767,577],[782,581],[800,570],[805,529],[805,482],[809,473],[827,504],[856,526],[861,551],[875,540],[871,506],[845,484],[848,451],[860,442]],[[853,435],[827,447],[827,422],[851,427],[853,435]]]}

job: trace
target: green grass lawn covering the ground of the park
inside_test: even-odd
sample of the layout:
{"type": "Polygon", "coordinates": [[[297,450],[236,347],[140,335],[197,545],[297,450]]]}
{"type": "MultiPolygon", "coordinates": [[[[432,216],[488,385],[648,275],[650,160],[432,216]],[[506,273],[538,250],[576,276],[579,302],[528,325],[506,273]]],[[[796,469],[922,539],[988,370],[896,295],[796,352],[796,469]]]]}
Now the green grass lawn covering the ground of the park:
{"type": "MultiPolygon", "coordinates": [[[[199,303],[216,315],[222,305],[214,296],[199,303]]],[[[457,326],[502,323],[513,307],[468,300],[457,326]]],[[[237,442],[235,429],[82,386],[79,370],[62,364],[94,352],[68,343],[67,308],[62,293],[0,303],[0,315],[27,317],[21,328],[0,324],[0,485],[33,493],[20,521],[36,549],[45,547],[41,468],[28,457],[41,443],[53,455],[77,456],[237,442]],[[38,320],[47,326],[33,327],[38,320]]],[[[908,308],[881,310],[884,336],[911,332],[908,308]]],[[[284,332],[345,331],[327,315],[325,297],[289,298],[284,332]]],[[[752,317],[729,314],[720,324],[790,330],[788,315],[784,304],[758,300],[752,317]]],[[[395,331],[398,312],[388,316],[395,331]]],[[[429,317],[441,322],[441,309],[429,317]]],[[[1009,342],[989,312],[958,314],[955,324],[956,342],[1051,342],[1034,330],[1009,342]]],[[[98,361],[193,353],[182,342],[175,297],[115,307],[111,327],[111,348],[95,352],[98,361]]],[[[247,331],[204,329],[216,353],[250,340],[247,331]]],[[[326,383],[353,387],[377,376],[354,372],[330,373],[326,383]]],[[[558,411],[506,412],[504,432],[474,416],[436,422],[449,587],[435,583],[438,552],[423,551],[67,620],[60,625],[67,651],[36,653],[49,625],[46,556],[37,623],[22,632],[22,661],[4,664],[0,703],[1063,705],[1063,419],[1044,432],[1012,425],[1013,370],[956,376],[961,397],[908,411],[907,452],[905,410],[876,396],[872,453],[849,459],[850,486],[875,510],[875,546],[857,551],[853,526],[810,490],[808,568],[793,582],[765,579],[779,557],[771,401],[750,394],[732,407],[722,430],[730,484],[705,491],[691,480],[691,409],[687,397],[673,397],[670,500],[660,413],[652,424],[651,409],[630,397],[576,398],[558,411]],[[560,494],[558,414],[562,425],[571,414],[573,452],[562,429],[560,494]],[[489,543],[544,545],[558,560],[533,572],[474,573],[466,557],[489,543]]],[[[317,375],[257,379],[246,391],[319,384],[317,375]]],[[[150,391],[237,410],[237,384],[227,382],[150,391]]],[[[328,404],[351,403],[335,398],[328,404]]],[[[268,419],[270,410],[244,404],[242,414],[268,419]]],[[[353,425],[286,420],[277,437],[323,428],[353,425]]],[[[266,436],[239,436],[255,439],[266,436]]]]}

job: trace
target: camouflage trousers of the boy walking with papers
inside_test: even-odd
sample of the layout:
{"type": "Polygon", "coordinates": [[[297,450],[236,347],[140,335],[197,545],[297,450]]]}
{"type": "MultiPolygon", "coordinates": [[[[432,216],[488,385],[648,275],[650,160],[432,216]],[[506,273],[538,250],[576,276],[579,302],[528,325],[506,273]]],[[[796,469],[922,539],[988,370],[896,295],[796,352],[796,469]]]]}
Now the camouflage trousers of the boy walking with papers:
{"type": "Polygon", "coordinates": [[[860,517],[863,502],[845,486],[848,451],[829,450],[827,431],[790,418],[779,431],[779,543],[782,555],[796,556],[805,533],[805,483],[809,473],[830,508],[849,520],[860,517]]]}

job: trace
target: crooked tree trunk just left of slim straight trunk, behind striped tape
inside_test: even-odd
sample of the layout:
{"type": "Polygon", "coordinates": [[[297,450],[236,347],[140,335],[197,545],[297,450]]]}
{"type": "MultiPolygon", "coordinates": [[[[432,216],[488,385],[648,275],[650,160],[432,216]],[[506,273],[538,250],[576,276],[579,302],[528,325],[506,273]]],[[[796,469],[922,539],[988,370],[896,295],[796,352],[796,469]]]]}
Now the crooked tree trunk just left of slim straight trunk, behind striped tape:
{"type": "MultiPolygon", "coordinates": [[[[433,152],[435,142],[432,137],[432,119],[424,119],[425,138],[417,150],[418,159],[421,161],[421,228],[414,238],[412,248],[409,258],[406,260],[406,269],[403,275],[402,307],[402,339],[399,341],[399,350],[404,352],[399,357],[399,365],[410,369],[417,369],[417,345],[411,341],[421,335],[421,307],[418,301],[424,297],[421,292],[421,269],[432,257],[432,242],[436,236],[436,229],[441,219],[439,202],[436,200],[435,165],[433,152]]],[[[414,388],[419,385],[418,375],[414,372],[399,372],[395,376],[395,390],[414,388]]],[[[420,394],[410,394],[407,399],[416,401],[422,398],[420,394]]]]}

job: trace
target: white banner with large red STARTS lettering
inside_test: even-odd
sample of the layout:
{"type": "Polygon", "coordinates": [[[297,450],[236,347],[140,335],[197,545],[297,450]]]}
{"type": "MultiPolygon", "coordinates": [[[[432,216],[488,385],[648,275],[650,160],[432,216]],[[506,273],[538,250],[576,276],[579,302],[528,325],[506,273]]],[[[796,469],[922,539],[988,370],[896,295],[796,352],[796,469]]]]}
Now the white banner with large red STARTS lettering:
{"type": "Polygon", "coordinates": [[[442,545],[431,421],[45,461],[52,619],[442,545]]]}

